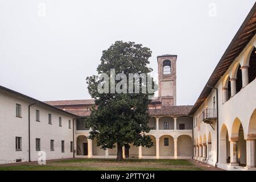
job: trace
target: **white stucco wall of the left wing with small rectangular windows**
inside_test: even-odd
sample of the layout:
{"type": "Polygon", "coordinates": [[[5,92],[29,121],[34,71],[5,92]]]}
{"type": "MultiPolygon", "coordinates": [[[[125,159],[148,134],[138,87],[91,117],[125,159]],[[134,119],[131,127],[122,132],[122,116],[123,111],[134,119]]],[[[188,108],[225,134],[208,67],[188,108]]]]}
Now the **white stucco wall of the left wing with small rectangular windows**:
{"type": "MultiPolygon", "coordinates": [[[[28,105],[32,101],[16,94],[0,91],[0,163],[14,163],[16,159],[28,161],[28,105]],[[22,118],[16,117],[16,104],[22,105],[22,118]],[[15,150],[15,137],[22,137],[22,151],[15,150]]],[[[46,159],[72,158],[70,142],[73,140],[72,121],[69,114],[43,105],[31,106],[31,160],[38,160],[35,138],[41,139],[41,150],[46,159]],[[35,119],[35,110],[40,110],[40,122],[35,119]],[[52,114],[52,125],[48,124],[48,113],[52,114]],[[59,127],[59,117],[62,127],[59,127]],[[71,120],[71,129],[68,128],[71,120]],[[55,140],[55,151],[50,151],[50,140],[55,140]],[[65,141],[65,152],[61,152],[61,140],[65,141]]]]}

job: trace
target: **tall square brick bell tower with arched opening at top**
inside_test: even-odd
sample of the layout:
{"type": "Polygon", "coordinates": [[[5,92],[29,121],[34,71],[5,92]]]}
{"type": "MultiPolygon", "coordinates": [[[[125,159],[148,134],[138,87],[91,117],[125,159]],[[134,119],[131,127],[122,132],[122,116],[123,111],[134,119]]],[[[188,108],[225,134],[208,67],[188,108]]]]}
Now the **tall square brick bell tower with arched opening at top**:
{"type": "Polygon", "coordinates": [[[158,97],[162,105],[176,105],[177,55],[158,56],[158,97]]]}

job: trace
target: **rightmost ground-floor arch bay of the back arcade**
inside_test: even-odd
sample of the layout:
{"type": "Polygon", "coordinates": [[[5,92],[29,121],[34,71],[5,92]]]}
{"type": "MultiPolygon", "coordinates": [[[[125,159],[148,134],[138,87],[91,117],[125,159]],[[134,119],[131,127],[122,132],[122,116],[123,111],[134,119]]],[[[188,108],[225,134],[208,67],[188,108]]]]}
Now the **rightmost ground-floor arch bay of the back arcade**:
{"type": "Polygon", "coordinates": [[[192,156],[192,138],[188,135],[180,135],[177,138],[177,156],[192,156]]]}

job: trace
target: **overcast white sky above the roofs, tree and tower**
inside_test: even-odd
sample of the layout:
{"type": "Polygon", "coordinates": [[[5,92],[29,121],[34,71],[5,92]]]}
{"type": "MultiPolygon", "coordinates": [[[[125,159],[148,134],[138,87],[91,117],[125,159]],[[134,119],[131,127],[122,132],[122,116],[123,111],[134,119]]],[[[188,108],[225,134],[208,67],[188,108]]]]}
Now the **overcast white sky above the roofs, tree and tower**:
{"type": "Polygon", "coordinates": [[[193,105],[254,2],[1,0],[0,85],[42,101],[90,98],[85,78],[123,40],[151,49],[154,73],[156,56],[176,54],[177,105],[193,105]]]}

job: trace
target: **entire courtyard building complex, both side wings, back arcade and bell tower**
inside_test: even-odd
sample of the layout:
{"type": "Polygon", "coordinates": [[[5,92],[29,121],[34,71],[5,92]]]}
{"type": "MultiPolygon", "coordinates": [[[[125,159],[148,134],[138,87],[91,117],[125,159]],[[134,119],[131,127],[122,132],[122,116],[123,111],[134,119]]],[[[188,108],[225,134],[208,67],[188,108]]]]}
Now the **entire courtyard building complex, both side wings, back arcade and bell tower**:
{"type": "MultiPolygon", "coordinates": [[[[256,169],[256,5],[193,106],[176,105],[176,55],[158,56],[158,97],[148,125],[154,146],[123,147],[124,158],[195,159],[227,170],[256,169]]],[[[0,86],[0,164],[116,158],[88,138],[93,100],[42,102],[0,86]]]]}

